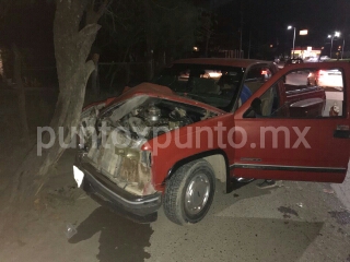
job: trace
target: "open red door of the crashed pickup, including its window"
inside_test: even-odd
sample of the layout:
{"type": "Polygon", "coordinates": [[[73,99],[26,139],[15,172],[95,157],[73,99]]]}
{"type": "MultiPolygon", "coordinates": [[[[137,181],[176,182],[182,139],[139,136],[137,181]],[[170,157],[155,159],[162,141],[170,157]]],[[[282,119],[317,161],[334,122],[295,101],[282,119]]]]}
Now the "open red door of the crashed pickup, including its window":
{"type": "Polygon", "coordinates": [[[350,153],[350,63],[285,67],[234,114],[235,177],[342,182],[350,153]]]}

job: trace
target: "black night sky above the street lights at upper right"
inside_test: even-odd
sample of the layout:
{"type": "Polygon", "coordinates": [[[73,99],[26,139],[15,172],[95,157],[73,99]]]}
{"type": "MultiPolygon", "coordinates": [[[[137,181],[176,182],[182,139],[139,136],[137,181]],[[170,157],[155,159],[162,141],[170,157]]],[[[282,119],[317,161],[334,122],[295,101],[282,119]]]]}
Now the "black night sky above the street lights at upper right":
{"type": "Polygon", "coordinates": [[[322,47],[335,31],[346,33],[346,37],[350,35],[349,0],[210,0],[210,4],[219,17],[230,17],[233,26],[240,26],[242,10],[243,40],[247,41],[252,32],[252,45],[254,41],[288,45],[293,37],[292,31],[287,31],[288,25],[295,26],[298,32],[308,29],[307,36],[296,35],[296,46],[322,47]]]}

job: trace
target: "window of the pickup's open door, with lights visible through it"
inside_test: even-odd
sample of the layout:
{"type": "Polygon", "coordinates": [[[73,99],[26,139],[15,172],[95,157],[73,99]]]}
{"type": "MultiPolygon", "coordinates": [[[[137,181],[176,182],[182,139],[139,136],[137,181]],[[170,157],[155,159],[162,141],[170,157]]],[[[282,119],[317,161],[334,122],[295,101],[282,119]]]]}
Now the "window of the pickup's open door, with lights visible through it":
{"type": "Polygon", "coordinates": [[[341,69],[302,69],[289,72],[267,90],[255,100],[255,111],[256,117],[271,118],[342,117],[343,97],[341,69]]]}

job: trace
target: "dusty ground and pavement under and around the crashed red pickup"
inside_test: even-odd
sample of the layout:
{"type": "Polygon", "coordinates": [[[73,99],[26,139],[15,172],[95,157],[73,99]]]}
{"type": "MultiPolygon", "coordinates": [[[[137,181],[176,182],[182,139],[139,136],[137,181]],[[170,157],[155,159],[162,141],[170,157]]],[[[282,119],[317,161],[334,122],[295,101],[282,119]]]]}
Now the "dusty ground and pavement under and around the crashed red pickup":
{"type": "MultiPolygon", "coordinates": [[[[32,100],[33,139],[49,120],[49,100],[32,100]]],[[[0,105],[1,202],[27,150],[15,97],[0,95],[0,105]]],[[[254,181],[230,194],[219,186],[208,216],[180,227],[162,210],[155,223],[136,224],[101,207],[77,188],[73,158],[67,151],[51,170],[26,227],[0,235],[0,261],[350,261],[350,176],[340,186],[283,181],[270,190],[254,181]],[[71,238],[67,226],[77,230],[71,238]]]]}

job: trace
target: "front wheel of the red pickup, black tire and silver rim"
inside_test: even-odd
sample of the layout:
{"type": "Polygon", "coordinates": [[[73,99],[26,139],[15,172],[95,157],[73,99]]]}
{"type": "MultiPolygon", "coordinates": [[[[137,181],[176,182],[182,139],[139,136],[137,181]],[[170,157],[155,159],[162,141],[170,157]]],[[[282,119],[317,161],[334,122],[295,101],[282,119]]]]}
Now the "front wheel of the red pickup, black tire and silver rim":
{"type": "Polygon", "coordinates": [[[205,159],[188,163],[166,182],[164,213],[178,225],[196,224],[207,215],[214,192],[215,176],[211,165],[205,159]]]}

